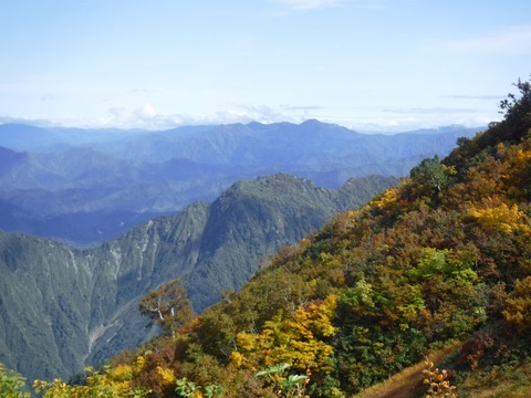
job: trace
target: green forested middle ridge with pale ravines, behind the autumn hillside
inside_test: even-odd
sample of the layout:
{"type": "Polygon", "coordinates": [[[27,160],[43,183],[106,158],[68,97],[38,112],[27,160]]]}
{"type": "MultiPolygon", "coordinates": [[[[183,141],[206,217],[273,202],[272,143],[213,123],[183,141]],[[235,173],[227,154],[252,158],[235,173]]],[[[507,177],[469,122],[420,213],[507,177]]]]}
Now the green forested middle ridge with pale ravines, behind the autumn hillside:
{"type": "Polygon", "coordinates": [[[374,176],[323,189],[287,175],[261,177],[87,250],[0,232],[0,363],[30,379],[67,378],[100,364],[153,335],[137,310],[148,291],[180,277],[200,312],[238,290],[280,245],[396,182],[374,176]]]}

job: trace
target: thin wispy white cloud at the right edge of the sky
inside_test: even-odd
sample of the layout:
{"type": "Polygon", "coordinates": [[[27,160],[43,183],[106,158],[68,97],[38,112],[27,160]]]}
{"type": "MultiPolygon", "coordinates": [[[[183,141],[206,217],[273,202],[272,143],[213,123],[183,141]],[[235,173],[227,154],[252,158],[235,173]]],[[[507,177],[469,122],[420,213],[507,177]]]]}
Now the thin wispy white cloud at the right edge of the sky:
{"type": "Polygon", "coordinates": [[[471,38],[448,43],[450,49],[468,53],[507,54],[531,53],[531,24],[509,27],[471,38]]]}

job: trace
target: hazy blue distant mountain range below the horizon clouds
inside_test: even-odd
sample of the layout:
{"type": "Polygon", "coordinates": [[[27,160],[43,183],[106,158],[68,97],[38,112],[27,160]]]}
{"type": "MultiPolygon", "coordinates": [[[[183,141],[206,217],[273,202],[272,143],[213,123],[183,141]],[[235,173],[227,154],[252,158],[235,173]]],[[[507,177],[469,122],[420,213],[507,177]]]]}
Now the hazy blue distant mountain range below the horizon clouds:
{"type": "Polygon", "coordinates": [[[405,176],[479,129],[367,135],[317,121],[165,132],[0,125],[0,229],[96,244],[212,201],[242,179],[285,172],[337,188],[351,177],[405,176]]]}

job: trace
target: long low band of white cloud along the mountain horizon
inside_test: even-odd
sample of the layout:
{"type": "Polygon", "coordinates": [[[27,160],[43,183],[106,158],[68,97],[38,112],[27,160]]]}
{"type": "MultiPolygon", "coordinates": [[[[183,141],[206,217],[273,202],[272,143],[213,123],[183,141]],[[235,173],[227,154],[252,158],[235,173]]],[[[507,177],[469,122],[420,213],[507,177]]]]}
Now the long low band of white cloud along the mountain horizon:
{"type": "Polygon", "coordinates": [[[339,124],[355,130],[405,132],[416,128],[439,127],[450,124],[465,126],[487,125],[498,119],[498,113],[481,113],[473,108],[426,107],[426,108],[345,108],[342,113],[330,112],[319,105],[236,105],[220,112],[202,114],[163,114],[152,104],[136,108],[113,107],[98,118],[42,119],[37,117],[1,117],[0,123],[29,123],[38,126],[63,126],[87,128],[142,128],[150,130],[169,129],[177,126],[220,125],[259,122],[302,123],[315,118],[325,123],[339,124]],[[490,114],[490,115],[489,115],[490,114]]]}

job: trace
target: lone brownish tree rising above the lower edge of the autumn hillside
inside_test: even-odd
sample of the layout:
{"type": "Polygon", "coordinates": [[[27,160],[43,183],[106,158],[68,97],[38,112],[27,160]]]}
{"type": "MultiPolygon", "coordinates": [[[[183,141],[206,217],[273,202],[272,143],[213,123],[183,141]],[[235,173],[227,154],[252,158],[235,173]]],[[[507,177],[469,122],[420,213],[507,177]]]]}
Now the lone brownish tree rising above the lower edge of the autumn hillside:
{"type": "Polygon", "coordinates": [[[138,310],[140,314],[157,322],[171,336],[175,336],[177,327],[194,316],[194,310],[180,279],[175,279],[147,293],[142,298],[138,310]]]}

